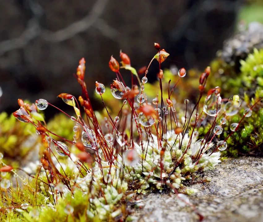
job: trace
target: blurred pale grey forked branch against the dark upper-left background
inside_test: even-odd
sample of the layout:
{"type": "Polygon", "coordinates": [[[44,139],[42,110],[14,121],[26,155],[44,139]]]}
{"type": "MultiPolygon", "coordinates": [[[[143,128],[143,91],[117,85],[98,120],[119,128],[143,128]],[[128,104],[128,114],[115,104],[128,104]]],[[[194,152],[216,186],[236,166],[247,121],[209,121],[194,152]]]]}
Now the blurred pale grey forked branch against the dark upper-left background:
{"type": "MultiPolygon", "coordinates": [[[[33,17],[28,20],[27,28],[19,37],[0,42],[0,56],[8,51],[23,48],[24,46],[28,45],[31,40],[38,36],[41,36],[41,38],[43,38],[45,41],[60,42],[87,30],[98,20],[108,1],[109,0],[97,0],[94,3],[91,11],[83,19],[76,21],[66,28],[60,29],[56,32],[50,32],[48,30],[43,30],[40,26],[39,19],[43,15],[42,7],[37,2],[29,0],[28,6],[33,13],[33,17]]],[[[109,38],[114,38],[118,34],[103,20],[98,21],[96,28],[109,38]],[[104,28],[105,30],[102,30],[104,28]]]]}

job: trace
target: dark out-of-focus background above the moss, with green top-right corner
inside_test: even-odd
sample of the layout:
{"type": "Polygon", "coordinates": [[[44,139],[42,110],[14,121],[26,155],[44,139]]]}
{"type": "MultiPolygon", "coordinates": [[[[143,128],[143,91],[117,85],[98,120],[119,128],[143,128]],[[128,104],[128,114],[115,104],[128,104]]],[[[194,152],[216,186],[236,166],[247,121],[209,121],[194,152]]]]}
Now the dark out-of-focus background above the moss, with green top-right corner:
{"type": "MultiPolygon", "coordinates": [[[[176,65],[203,70],[224,40],[249,22],[263,22],[262,2],[0,1],[0,111],[17,110],[18,98],[31,102],[45,98],[64,106],[58,94],[81,94],[72,74],[82,57],[93,95],[95,81],[109,85],[115,78],[108,67],[112,54],[120,60],[122,49],[139,69],[156,53],[154,42],[170,53],[164,68],[176,65]]],[[[157,65],[149,70],[149,82],[156,80],[157,65]]],[[[123,76],[129,79],[130,73],[123,71],[123,76]]]]}

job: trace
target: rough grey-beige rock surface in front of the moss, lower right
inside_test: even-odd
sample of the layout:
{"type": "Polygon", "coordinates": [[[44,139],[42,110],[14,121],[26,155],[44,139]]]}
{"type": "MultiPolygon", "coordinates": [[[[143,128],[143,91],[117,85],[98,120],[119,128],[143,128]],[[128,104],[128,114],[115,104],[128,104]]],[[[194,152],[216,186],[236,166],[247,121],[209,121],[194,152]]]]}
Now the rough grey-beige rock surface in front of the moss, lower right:
{"type": "MultiPolygon", "coordinates": [[[[212,181],[192,185],[199,191],[190,197],[203,221],[263,221],[263,158],[229,159],[203,176],[212,181]]],[[[144,208],[135,211],[136,221],[199,221],[193,209],[181,207],[174,194],[149,194],[141,199],[144,208]]]]}

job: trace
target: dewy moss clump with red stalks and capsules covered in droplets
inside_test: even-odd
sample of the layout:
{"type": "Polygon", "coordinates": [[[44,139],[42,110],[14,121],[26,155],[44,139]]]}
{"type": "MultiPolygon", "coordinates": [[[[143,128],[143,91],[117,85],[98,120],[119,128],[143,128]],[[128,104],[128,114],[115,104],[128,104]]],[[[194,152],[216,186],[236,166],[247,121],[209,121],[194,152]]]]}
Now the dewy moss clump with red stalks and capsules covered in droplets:
{"type": "MultiPolygon", "coordinates": [[[[176,86],[187,71],[181,68],[174,84],[165,82],[162,63],[169,53],[161,50],[158,43],[154,46],[157,54],[148,67],[138,72],[144,72],[141,80],[127,54],[120,52],[121,65],[110,57],[109,67],[116,79],[110,89],[95,83],[95,92],[104,106],[100,113],[93,110],[84,82],[84,58],[75,74],[82,95],[78,99],[67,93],[58,95],[73,107],[74,116],[45,99],[38,99],[35,104],[18,100],[20,108],[13,115],[35,129],[41,141],[37,146],[40,159],[31,164],[31,172],[1,162],[2,220],[132,220],[128,203],[136,203],[138,194],[150,190],[168,190],[196,211],[187,195],[197,190],[187,185],[220,162],[221,151],[227,149],[226,140],[239,129],[244,118],[253,115],[261,98],[245,107],[243,117],[232,123],[231,118],[245,104],[238,95],[221,98],[220,87],[206,90],[210,75],[207,67],[200,75],[196,102],[185,99],[183,104],[176,103],[176,86]],[[154,60],[159,63],[159,89],[150,100],[145,92],[147,76],[155,75],[148,72],[154,60]],[[123,80],[122,69],[131,72],[129,84],[123,80]],[[116,100],[115,111],[119,107],[115,113],[104,102],[109,92],[116,100]],[[49,107],[67,117],[71,137],[65,136],[70,133],[59,135],[58,127],[46,124],[42,113],[49,107]],[[231,133],[219,139],[226,122],[231,122],[231,133]],[[206,125],[207,131],[200,136],[199,128],[206,125]]],[[[66,125],[67,121],[61,120],[57,122],[66,125]]],[[[196,213],[201,220],[202,216],[196,213]]]]}

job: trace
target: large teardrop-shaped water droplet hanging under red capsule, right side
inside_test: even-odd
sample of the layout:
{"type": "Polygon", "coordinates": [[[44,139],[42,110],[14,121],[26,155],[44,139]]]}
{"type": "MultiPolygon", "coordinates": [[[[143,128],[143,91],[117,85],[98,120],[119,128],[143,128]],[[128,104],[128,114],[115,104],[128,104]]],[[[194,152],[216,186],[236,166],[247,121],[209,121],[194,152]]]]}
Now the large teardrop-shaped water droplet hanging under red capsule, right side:
{"type": "Polygon", "coordinates": [[[205,100],[204,112],[207,115],[216,116],[221,109],[221,101],[222,101],[222,98],[220,94],[219,93],[215,94],[215,92],[213,92],[205,100]]]}

